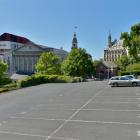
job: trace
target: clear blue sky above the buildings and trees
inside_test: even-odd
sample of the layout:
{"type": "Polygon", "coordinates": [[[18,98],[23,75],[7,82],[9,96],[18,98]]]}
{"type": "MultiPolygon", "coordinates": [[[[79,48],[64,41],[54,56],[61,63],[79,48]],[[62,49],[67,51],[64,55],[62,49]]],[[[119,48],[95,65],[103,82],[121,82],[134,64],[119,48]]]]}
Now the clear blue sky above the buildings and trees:
{"type": "Polygon", "coordinates": [[[0,34],[13,33],[35,43],[70,51],[74,27],[79,47],[103,57],[107,37],[140,22],[140,0],[0,0],[0,34]]]}

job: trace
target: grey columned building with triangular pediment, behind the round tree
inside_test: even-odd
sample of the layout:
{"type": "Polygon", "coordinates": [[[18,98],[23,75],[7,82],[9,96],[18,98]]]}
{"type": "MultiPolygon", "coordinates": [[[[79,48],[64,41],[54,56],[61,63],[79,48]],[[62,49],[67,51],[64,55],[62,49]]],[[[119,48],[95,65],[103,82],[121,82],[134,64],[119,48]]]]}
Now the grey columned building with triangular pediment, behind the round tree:
{"type": "Polygon", "coordinates": [[[13,72],[27,75],[33,74],[35,72],[35,65],[43,52],[53,52],[62,61],[68,54],[63,49],[46,47],[30,42],[13,51],[13,72]]]}

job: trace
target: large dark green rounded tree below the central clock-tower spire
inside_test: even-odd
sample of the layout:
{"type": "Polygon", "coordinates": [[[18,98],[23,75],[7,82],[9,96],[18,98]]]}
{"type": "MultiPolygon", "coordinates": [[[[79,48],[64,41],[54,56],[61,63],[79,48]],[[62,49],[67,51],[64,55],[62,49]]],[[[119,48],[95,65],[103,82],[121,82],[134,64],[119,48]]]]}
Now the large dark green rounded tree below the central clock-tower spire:
{"type": "Polygon", "coordinates": [[[92,76],[93,63],[90,54],[85,49],[74,48],[69,53],[67,59],[62,63],[64,74],[70,76],[92,76]]]}

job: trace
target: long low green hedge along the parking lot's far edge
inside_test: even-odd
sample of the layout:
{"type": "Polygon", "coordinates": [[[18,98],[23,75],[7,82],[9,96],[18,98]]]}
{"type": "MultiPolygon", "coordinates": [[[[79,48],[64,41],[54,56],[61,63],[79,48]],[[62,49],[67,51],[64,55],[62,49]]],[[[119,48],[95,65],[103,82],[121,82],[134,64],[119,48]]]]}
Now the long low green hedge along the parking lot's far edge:
{"type": "Polygon", "coordinates": [[[64,75],[42,75],[35,74],[19,82],[20,87],[35,86],[43,83],[74,83],[81,82],[81,77],[70,77],[64,75]]]}

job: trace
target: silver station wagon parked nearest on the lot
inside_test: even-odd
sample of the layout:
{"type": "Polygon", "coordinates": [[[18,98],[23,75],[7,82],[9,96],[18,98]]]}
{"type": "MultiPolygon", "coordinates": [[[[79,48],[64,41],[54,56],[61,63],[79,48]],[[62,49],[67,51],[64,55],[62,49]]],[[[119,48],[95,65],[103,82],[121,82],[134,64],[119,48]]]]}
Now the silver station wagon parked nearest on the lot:
{"type": "Polygon", "coordinates": [[[140,80],[139,79],[129,79],[126,76],[115,76],[110,78],[109,80],[109,85],[112,87],[118,87],[118,86],[137,86],[140,85],[140,80]]]}

